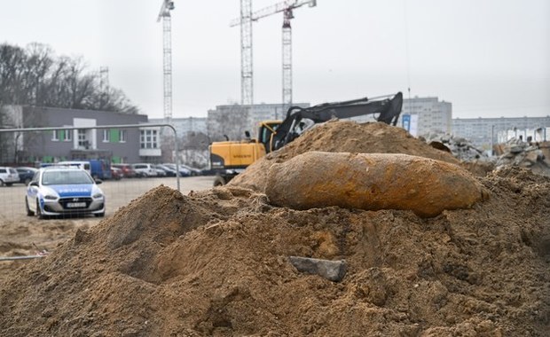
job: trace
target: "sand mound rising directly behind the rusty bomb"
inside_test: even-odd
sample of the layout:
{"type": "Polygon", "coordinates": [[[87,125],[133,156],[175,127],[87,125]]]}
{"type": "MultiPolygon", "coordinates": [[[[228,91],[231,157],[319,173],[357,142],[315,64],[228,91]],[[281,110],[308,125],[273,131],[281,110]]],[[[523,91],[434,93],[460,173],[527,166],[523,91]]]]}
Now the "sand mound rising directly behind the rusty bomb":
{"type": "Polygon", "coordinates": [[[306,131],[279,151],[255,161],[247,170],[229,183],[263,192],[266,175],[274,163],[288,161],[298,154],[310,151],[328,153],[403,153],[460,164],[460,161],[437,150],[413,136],[405,129],[382,122],[327,121],[306,131]]]}

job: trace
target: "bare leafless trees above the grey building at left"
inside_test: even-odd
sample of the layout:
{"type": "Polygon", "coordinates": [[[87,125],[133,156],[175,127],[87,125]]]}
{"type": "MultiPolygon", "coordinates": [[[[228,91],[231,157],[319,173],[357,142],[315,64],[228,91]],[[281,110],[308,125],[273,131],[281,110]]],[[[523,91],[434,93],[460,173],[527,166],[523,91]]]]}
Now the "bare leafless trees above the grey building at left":
{"type": "Polygon", "coordinates": [[[82,58],[56,56],[50,47],[0,44],[0,106],[48,106],[138,114],[122,90],[101,85],[82,58]]]}

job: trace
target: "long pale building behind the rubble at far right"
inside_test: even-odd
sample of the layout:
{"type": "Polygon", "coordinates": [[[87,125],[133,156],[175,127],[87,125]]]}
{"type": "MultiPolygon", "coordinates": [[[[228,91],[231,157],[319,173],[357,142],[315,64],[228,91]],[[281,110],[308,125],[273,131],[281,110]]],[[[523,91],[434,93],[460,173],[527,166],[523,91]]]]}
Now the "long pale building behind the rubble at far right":
{"type": "Polygon", "coordinates": [[[546,117],[499,117],[499,118],[456,118],[452,120],[452,133],[468,138],[474,145],[489,149],[499,143],[501,131],[511,131],[518,137],[526,135],[529,129],[550,127],[550,116],[546,117]]]}

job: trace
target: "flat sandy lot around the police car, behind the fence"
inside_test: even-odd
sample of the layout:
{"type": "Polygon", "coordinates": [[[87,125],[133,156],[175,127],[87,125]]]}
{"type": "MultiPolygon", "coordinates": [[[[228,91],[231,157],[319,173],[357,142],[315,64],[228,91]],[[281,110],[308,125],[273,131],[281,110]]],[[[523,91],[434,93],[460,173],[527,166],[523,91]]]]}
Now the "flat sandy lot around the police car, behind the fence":
{"type": "MultiPolygon", "coordinates": [[[[213,176],[182,177],[180,191],[187,194],[208,189],[213,179],[213,176]]],[[[99,187],[106,194],[106,218],[161,184],[177,189],[174,177],[122,179],[100,184],[99,187]]],[[[45,220],[27,216],[24,204],[26,188],[22,184],[0,188],[0,257],[35,255],[43,250],[51,252],[60,243],[73,237],[76,230],[89,229],[102,220],[93,216],[45,220]]],[[[6,278],[10,270],[27,261],[0,261],[0,279],[6,278]]]]}

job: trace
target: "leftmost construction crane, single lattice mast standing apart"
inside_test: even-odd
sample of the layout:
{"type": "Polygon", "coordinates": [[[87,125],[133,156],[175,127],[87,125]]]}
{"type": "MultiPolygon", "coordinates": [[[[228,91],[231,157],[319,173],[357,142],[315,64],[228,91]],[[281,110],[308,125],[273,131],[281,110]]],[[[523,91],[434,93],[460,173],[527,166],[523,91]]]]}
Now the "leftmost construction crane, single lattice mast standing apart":
{"type": "Polygon", "coordinates": [[[172,121],[172,18],[174,2],[162,0],[157,22],[162,20],[162,74],[164,76],[164,122],[172,121]]]}

